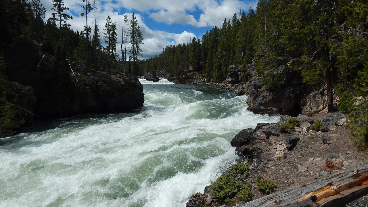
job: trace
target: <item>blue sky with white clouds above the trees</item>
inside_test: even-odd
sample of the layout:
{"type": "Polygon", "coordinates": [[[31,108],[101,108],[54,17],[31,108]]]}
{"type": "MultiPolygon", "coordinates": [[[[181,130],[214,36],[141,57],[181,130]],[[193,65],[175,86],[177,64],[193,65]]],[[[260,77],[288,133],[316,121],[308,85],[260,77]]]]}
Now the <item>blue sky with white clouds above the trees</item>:
{"type": "MultiPolygon", "coordinates": [[[[92,0],[87,0],[91,1],[92,0]]],[[[141,45],[143,56],[139,59],[148,59],[159,55],[168,45],[177,45],[190,42],[193,37],[202,39],[206,31],[213,26],[221,27],[224,19],[233,18],[236,13],[240,16],[243,9],[256,9],[258,0],[96,0],[98,4],[96,19],[99,31],[103,32],[107,16],[117,25],[117,53],[120,53],[121,29],[124,25],[124,14],[131,19],[132,13],[138,20],[144,38],[141,45]]],[[[52,0],[41,0],[46,8],[46,19],[52,17],[52,0]]],[[[64,0],[65,12],[73,16],[67,20],[74,31],[81,31],[86,24],[82,0],[64,0]]],[[[88,26],[94,27],[93,11],[88,14],[88,26]]],[[[104,42],[101,35],[101,42],[104,42]]]]}

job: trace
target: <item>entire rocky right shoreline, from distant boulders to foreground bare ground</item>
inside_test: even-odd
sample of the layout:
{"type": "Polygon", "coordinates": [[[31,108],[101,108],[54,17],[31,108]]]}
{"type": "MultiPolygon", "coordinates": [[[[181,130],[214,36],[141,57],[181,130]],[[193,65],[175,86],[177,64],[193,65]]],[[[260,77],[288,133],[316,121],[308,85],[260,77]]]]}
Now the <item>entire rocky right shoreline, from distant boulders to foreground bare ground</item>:
{"type": "MultiPolygon", "coordinates": [[[[283,73],[282,68],[279,71],[283,73]]],[[[188,75],[163,77],[174,83],[203,83],[200,77],[199,81],[192,81],[188,75]]],[[[354,145],[350,131],[344,127],[348,123],[346,116],[341,112],[327,112],[326,89],[312,91],[300,83],[297,75],[288,77],[288,84],[271,90],[262,86],[254,64],[249,64],[245,67],[245,73],[241,66],[230,66],[228,78],[223,83],[205,83],[233,91],[236,95],[248,95],[248,110],[256,114],[281,114],[279,122],[259,123],[255,129],[240,131],[231,141],[231,145],[236,147],[238,162],[250,160],[256,166],[262,166],[252,171],[252,178],[264,176],[275,180],[277,191],[310,182],[368,158],[354,145]],[[291,117],[297,117],[299,125],[290,133],[280,131],[281,124],[286,124],[291,117]],[[312,129],[317,120],[322,123],[319,132],[312,129]]],[[[339,94],[334,94],[333,102],[337,108],[339,94]]],[[[187,207],[233,206],[218,203],[209,194],[210,187],[206,186],[204,193],[193,194],[187,207]]],[[[254,191],[253,199],[260,197],[262,195],[254,191]]],[[[362,197],[346,207],[366,206],[367,200],[362,197]]]]}

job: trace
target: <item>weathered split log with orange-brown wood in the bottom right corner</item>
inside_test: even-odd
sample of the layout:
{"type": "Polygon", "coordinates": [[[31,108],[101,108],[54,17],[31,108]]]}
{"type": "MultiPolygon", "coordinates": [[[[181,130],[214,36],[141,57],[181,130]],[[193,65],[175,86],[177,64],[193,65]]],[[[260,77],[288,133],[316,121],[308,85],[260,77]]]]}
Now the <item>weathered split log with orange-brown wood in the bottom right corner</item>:
{"type": "Polygon", "coordinates": [[[368,194],[368,161],[237,207],[340,207],[368,194]]]}

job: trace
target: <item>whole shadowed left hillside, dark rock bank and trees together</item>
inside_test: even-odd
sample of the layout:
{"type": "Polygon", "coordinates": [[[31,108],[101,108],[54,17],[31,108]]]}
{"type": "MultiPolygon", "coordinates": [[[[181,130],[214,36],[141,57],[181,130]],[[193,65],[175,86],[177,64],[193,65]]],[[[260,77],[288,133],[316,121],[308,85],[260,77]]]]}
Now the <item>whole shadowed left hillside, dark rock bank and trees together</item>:
{"type": "Polygon", "coordinates": [[[137,80],[143,36],[135,15],[124,18],[119,57],[117,25],[109,16],[102,27],[97,24],[97,1],[82,1],[80,15],[94,17],[83,31],[70,29],[73,17],[63,0],[52,2],[52,17],[46,17],[40,0],[0,0],[0,138],[33,118],[121,112],[143,105],[137,80]],[[127,42],[134,45],[130,50],[127,42]]]}

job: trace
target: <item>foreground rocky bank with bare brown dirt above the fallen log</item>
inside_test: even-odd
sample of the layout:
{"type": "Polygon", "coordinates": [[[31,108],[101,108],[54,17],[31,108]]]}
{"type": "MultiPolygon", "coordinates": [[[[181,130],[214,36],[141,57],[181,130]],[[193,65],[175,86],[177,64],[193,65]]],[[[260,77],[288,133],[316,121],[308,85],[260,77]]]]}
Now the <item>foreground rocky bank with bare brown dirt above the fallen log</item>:
{"type": "MultiPolygon", "coordinates": [[[[282,116],[277,123],[260,123],[255,129],[244,129],[231,141],[239,155],[238,161],[250,158],[258,166],[251,171],[251,179],[263,176],[275,180],[279,191],[348,168],[368,158],[367,154],[354,146],[350,132],[344,127],[346,117],[341,112],[319,113],[312,117],[299,115],[299,125],[294,130],[290,133],[280,130],[281,124],[286,124],[290,118],[282,116]],[[321,131],[318,132],[312,129],[317,120],[322,121],[321,131]]],[[[210,186],[206,187],[204,194],[194,194],[187,207],[203,204],[233,206],[217,203],[210,196],[209,189],[210,186]]],[[[262,197],[258,191],[253,189],[252,192],[253,199],[262,197]]],[[[363,199],[360,202],[365,201],[363,199]]]]}

